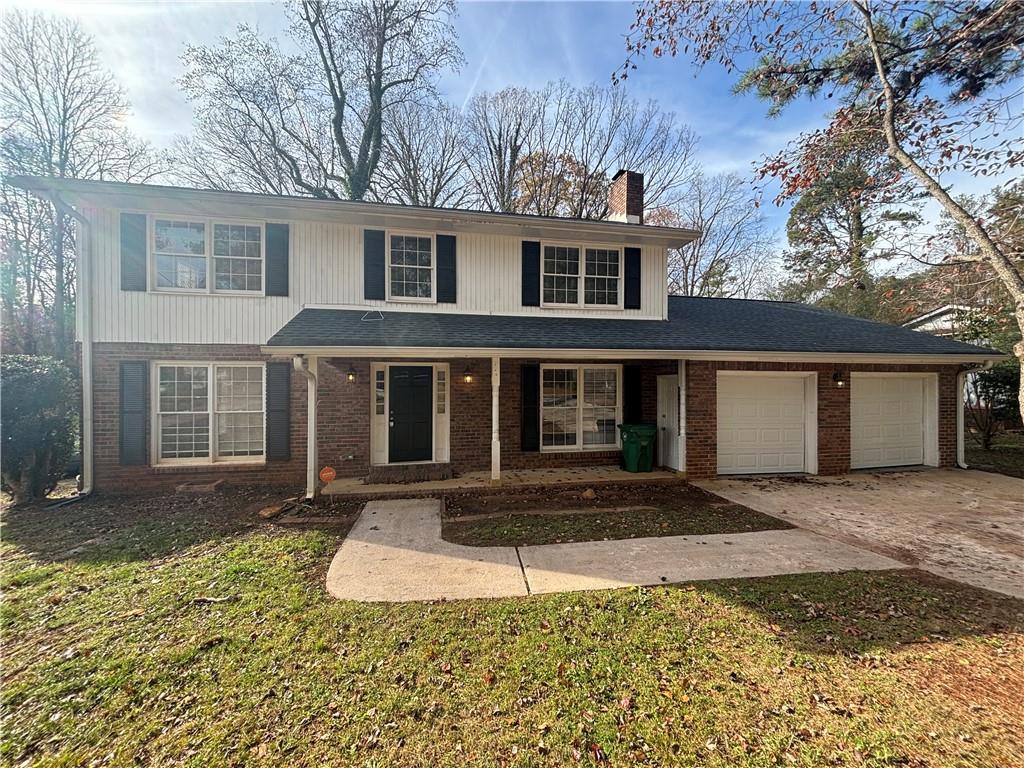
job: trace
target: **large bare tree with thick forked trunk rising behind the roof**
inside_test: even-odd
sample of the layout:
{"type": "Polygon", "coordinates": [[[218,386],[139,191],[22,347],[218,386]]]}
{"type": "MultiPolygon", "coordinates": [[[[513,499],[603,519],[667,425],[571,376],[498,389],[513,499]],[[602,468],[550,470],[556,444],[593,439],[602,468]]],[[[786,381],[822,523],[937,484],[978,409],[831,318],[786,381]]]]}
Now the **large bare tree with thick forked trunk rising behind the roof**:
{"type": "Polygon", "coordinates": [[[196,140],[226,166],[189,174],[257,188],[287,180],[299,194],[362,200],[392,113],[429,95],[437,72],[462,60],[455,2],[303,0],[290,12],[298,54],[247,26],[219,45],[186,49],[181,85],[197,108],[196,140]],[[233,156],[240,138],[252,146],[233,156]]]}

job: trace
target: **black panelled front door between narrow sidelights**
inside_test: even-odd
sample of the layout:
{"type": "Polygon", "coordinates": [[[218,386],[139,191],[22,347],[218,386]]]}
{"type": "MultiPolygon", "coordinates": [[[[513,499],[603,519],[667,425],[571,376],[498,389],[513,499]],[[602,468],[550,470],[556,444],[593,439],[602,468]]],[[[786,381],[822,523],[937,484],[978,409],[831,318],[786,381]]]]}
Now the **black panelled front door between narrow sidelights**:
{"type": "Polygon", "coordinates": [[[433,368],[388,369],[388,461],[428,462],[433,458],[433,368]]]}

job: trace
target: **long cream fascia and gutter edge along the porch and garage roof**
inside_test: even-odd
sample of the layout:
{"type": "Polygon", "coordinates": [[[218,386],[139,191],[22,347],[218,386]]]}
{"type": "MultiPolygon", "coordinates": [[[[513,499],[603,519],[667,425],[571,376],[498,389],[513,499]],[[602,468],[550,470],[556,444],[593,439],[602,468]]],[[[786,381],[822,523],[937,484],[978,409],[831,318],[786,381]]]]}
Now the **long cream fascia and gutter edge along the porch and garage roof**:
{"type": "Polygon", "coordinates": [[[890,366],[970,365],[1006,359],[982,354],[876,354],[868,352],[729,352],[706,349],[536,349],[502,347],[370,347],[370,346],[262,346],[263,354],[321,357],[509,357],[548,359],[686,359],[741,362],[861,362],[890,366]]]}

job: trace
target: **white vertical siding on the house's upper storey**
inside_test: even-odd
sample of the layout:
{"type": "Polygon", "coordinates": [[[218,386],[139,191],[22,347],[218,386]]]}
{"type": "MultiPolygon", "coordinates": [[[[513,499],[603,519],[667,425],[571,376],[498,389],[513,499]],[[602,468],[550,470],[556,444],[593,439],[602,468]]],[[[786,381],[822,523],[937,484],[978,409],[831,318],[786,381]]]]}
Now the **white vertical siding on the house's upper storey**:
{"type": "MultiPolygon", "coordinates": [[[[92,335],[98,342],[265,344],[303,306],[387,308],[362,298],[361,226],[291,221],[288,296],[210,292],[122,291],[120,211],[83,209],[92,222],[88,258],[93,283],[92,335]]],[[[174,213],[170,211],[169,213],[174,213]]],[[[183,218],[187,218],[184,216],[183,218]]],[[[373,227],[371,227],[373,228],[373,227]]],[[[456,233],[459,295],[455,303],[409,302],[402,311],[662,319],[668,287],[665,249],[642,250],[641,306],[608,309],[522,306],[522,237],[456,233]]],[[[151,267],[152,268],[152,267],[151,267]]],[[[151,285],[153,285],[151,283],[151,285]]],[[[621,292],[620,292],[621,293],[621,292]]],[[[83,328],[78,303],[78,328],[83,328]]]]}

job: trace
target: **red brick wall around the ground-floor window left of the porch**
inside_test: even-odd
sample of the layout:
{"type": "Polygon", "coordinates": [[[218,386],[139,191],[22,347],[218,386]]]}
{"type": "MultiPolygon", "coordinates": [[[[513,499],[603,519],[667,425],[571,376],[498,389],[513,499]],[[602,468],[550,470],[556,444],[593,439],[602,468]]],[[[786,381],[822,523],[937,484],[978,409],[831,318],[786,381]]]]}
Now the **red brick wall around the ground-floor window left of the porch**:
{"type": "MultiPolygon", "coordinates": [[[[305,485],[306,380],[292,374],[292,456],[286,462],[265,464],[220,463],[210,467],[122,466],[119,458],[120,370],[122,360],[262,361],[256,346],[225,344],[114,344],[93,345],[93,486],[103,493],[164,490],[182,482],[209,482],[223,478],[230,483],[305,485]]],[[[152,373],[151,373],[152,376],[152,373]]],[[[152,385],[152,381],[151,381],[152,385]]],[[[148,396],[148,393],[146,393],[148,396]]],[[[146,419],[146,446],[152,438],[152,418],[146,419]]],[[[152,449],[151,449],[152,451],[152,449]]],[[[151,457],[152,461],[152,457],[151,457]]]]}

